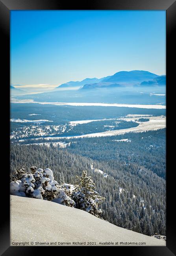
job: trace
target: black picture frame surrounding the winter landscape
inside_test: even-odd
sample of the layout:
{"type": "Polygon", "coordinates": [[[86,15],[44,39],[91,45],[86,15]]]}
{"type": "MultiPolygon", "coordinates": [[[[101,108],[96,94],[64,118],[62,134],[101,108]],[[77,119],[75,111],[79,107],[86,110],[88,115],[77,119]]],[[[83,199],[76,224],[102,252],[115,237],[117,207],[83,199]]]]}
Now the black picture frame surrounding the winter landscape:
{"type": "MultiPolygon", "coordinates": [[[[166,10],[167,15],[167,41],[166,41],[166,73],[167,73],[167,125],[170,119],[170,99],[172,95],[172,90],[169,87],[172,86],[172,81],[174,81],[174,36],[175,36],[175,24],[176,24],[176,1],[174,0],[89,0],[81,3],[78,2],[67,2],[63,0],[0,0],[0,29],[2,35],[2,64],[3,72],[2,77],[4,78],[3,87],[6,87],[3,94],[3,98],[6,103],[9,102],[9,70],[10,70],[10,11],[11,10],[166,10]]],[[[4,115],[4,122],[6,122],[6,128],[9,127],[9,104],[6,104],[6,113],[4,115]]],[[[170,132],[169,132],[170,133],[170,132]]],[[[3,131],[3,138],[5,139],[5,144],[3,144],[3,167],[6,166],[7,180],[9,178],[8,166],[9,166],[9,129],[3,131]]],[[[170,137],[167,132],[167,152],[169,150],[170,137]]],[[[167,154],[167,170],[169,168],[169,162],[173,156],[167,154]]],[[[174,159],[174,158],[173,158],[174,159]]],[[[173,160],[172,159],[172,160],[173,160]]],[[[150,255],[150,256],[172,256],[176,254],[176,243],[175,243],[175,229],[174,229],[174,211],[171,208],[172,200],[174,200],[174,179],[173,172],[169,168],[167,172],[167,246],[166,247],[117,247],[116,252],[128,253],[131,255],[150,255]]],[[[10,210],[9,210],[9,187],[7,185],[3,188],[4,193],[2,197],[3,210],[1,210],[1,232],[0,232],[0,254],[1,255],[31,255],[34,254],[39,249],[38,247],[10,247],[9,246],[9,220],[10,220],[10,210]],[[4,200],[4,202],[3,202],[4,200]],[[6,205],[6,207],[5,207],[6,205]]],[[[78,247],[74,247],[78,251],[78,247]]],[[[61,248],[52,247],[56,249],[57,253],[72,253],[73,247],[61,248]]],[[[40,248],[41,249],[41,248],[40,248]]],[[[48,249],[51,247],[44,247],[45,253],[48,253],[48,249]]],[[[114,247],[103,247],[103,250],[114,249],[114,247]]],[[[92,252],[98,253],[100,247],[87,247],[86,250],[83,247],[79,247],[79,252],[83,255],[90,254],[92,252]]],[[[37,253],[36,253],[37,254],[37,253]]]]}

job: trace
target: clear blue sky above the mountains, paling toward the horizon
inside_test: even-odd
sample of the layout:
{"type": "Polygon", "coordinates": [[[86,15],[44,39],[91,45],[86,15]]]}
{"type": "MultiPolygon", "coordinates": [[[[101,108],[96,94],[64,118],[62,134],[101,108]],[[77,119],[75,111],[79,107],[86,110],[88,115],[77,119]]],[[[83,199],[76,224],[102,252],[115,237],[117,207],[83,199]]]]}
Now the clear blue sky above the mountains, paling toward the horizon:
{"type": "Polygon", "coordinates": [[[11,84],[165,74],[165,11],[11,11],[11,84]]]}

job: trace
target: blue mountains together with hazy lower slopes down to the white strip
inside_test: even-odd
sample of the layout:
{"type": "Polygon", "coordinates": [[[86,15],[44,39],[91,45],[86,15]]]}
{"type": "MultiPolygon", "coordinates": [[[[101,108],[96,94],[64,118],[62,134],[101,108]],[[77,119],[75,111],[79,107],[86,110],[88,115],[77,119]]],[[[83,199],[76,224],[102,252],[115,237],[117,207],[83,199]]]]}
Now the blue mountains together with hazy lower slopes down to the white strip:
{"type": "MultiPolygon", "coordinates": [[[[165,104],[165,85],[166,76],[157,76],[143,70],[120,71],[113,76],[100,79],[70,81],[49,92],[33,92],[30,93],[30,99],[36,102],[98,101],[119,104],[165,104]],[[126,82],[124,82],[125,78],[126,82]],[[155,96],[151,97],[151,94],[155,96]]],[[[25,93],[19,93],[19,96],[16,93],[17,98],[29,99],[27,94],[22,94],[25,93]]]]}

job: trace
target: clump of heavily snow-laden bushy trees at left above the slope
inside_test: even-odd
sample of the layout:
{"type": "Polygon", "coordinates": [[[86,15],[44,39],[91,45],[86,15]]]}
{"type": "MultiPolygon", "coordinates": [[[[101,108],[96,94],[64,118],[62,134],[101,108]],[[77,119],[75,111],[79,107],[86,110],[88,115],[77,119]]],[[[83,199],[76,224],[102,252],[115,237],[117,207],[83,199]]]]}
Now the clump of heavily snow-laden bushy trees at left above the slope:
{"type": "Polygon", "coordinates": [[[68,195],[71,195],[73,185],[63,184],[61,187],[56,180],[52,170],[37,169],[32,166],[30,172],[25,172],[26,169],[17,169],[11,175],[10,193],[21,197],[32,197],[45,200],[57,199],[54,202],[64,204],[66,206],[74,206],[74,200],[68,195]]]}

